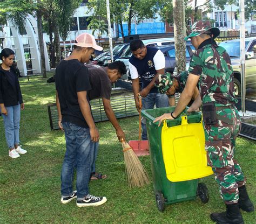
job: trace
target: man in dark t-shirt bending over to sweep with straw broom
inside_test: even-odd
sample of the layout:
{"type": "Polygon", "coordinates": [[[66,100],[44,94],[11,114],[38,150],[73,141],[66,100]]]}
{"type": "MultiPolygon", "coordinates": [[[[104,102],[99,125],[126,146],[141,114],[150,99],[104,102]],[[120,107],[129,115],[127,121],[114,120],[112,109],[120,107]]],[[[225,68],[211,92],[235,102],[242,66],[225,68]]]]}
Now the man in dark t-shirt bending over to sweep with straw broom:
{"type": "MultiPolygon", "coordinates": [[[[114,129],[116,129],[116,134],[119,141],[121,141],[122,138],[125,139],[124,131],[118,124],[117,118],[114,115],[114,111],[110,104],[112,83],[120,79],[123,74],[126,74],[126,67],[124,62],[114,61],[107,67],[102,67],[94,64],[86,65],[86,67],[89,70],[89,80],[91,84],[91,90],[89,90],[89,99],[93,100],[98,97],[102,97],[106,116],[107,118],[109,118],[114,129]]],[[[97,149],[95,151],[95,156],[93,159],[91,179],[104,179],[106,178],[106,176],[101,173],[96,173],[95,170],[95,160],[98,153],[97,149]]]]}

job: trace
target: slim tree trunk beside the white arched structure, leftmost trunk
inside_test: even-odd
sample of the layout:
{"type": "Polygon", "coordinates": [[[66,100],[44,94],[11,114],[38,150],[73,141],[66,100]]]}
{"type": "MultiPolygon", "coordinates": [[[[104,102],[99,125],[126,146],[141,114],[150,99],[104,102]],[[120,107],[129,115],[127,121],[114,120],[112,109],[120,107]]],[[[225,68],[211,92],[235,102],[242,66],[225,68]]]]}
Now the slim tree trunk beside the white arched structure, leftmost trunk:
{"type": "MultiPolygon", "coordinates": [[[[37,0],[37,3],[41,4],[41,0],[37,0]]],[[[43,75],[43,78],[46,78],[41,6],[39,6],[37,10],[37,31],[38,31],[39,49],[40,49],[40,56],[41,56],[41,74],[43,75]]]]}

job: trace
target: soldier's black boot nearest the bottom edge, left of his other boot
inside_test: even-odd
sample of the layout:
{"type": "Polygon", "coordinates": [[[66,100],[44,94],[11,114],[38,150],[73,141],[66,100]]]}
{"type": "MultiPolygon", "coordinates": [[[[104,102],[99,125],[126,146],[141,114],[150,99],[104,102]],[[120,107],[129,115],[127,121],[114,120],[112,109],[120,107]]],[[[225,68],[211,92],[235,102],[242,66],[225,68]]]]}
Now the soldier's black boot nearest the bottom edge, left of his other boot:
{"type": "Polygon", "coordinates": [[[226,212],[212,213],[211,219],[217,224],[244,224],[238,203],[226,205],[226,212]]]}

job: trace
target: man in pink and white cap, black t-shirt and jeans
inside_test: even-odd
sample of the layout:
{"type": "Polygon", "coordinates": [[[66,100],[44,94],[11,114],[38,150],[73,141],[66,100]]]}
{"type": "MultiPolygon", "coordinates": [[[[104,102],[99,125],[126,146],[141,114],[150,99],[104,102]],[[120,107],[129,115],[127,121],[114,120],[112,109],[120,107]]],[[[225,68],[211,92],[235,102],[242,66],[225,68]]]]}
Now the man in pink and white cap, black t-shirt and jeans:
{"type": "Polygon", "coordinates": [[[84,63],[90,59],[95,49],[102,50],[102,47],[97,46],[95,38],[87,33],[80,34],[74,45],[71,55],[60,61],[55,76],[59,127],[64,129],[66,139],[60,202],[66,204],[77,198],[78,207],[97,206],[105,203],[106,198],[89,193],[91,166],[99,133],[89,104],[87,91],[91,89],[91,85],[84,63]],[[77,191],[72,188],[75,167],[77,191]]]}

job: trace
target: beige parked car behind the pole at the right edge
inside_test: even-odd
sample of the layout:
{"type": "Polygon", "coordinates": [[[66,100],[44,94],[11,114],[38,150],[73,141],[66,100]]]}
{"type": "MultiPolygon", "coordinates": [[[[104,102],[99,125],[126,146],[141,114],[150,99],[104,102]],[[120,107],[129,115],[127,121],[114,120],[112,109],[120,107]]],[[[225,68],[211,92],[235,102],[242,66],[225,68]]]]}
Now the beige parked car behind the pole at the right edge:
{"type": "MultiPolygon", "coordinates": [[[[234,71],[235,95],[241,94],[240,39],[228,40],[219,44],[230,55],[234,71]]],[[[245,38],[245,85],[256,89],[256,37],[245,38]]]]}

